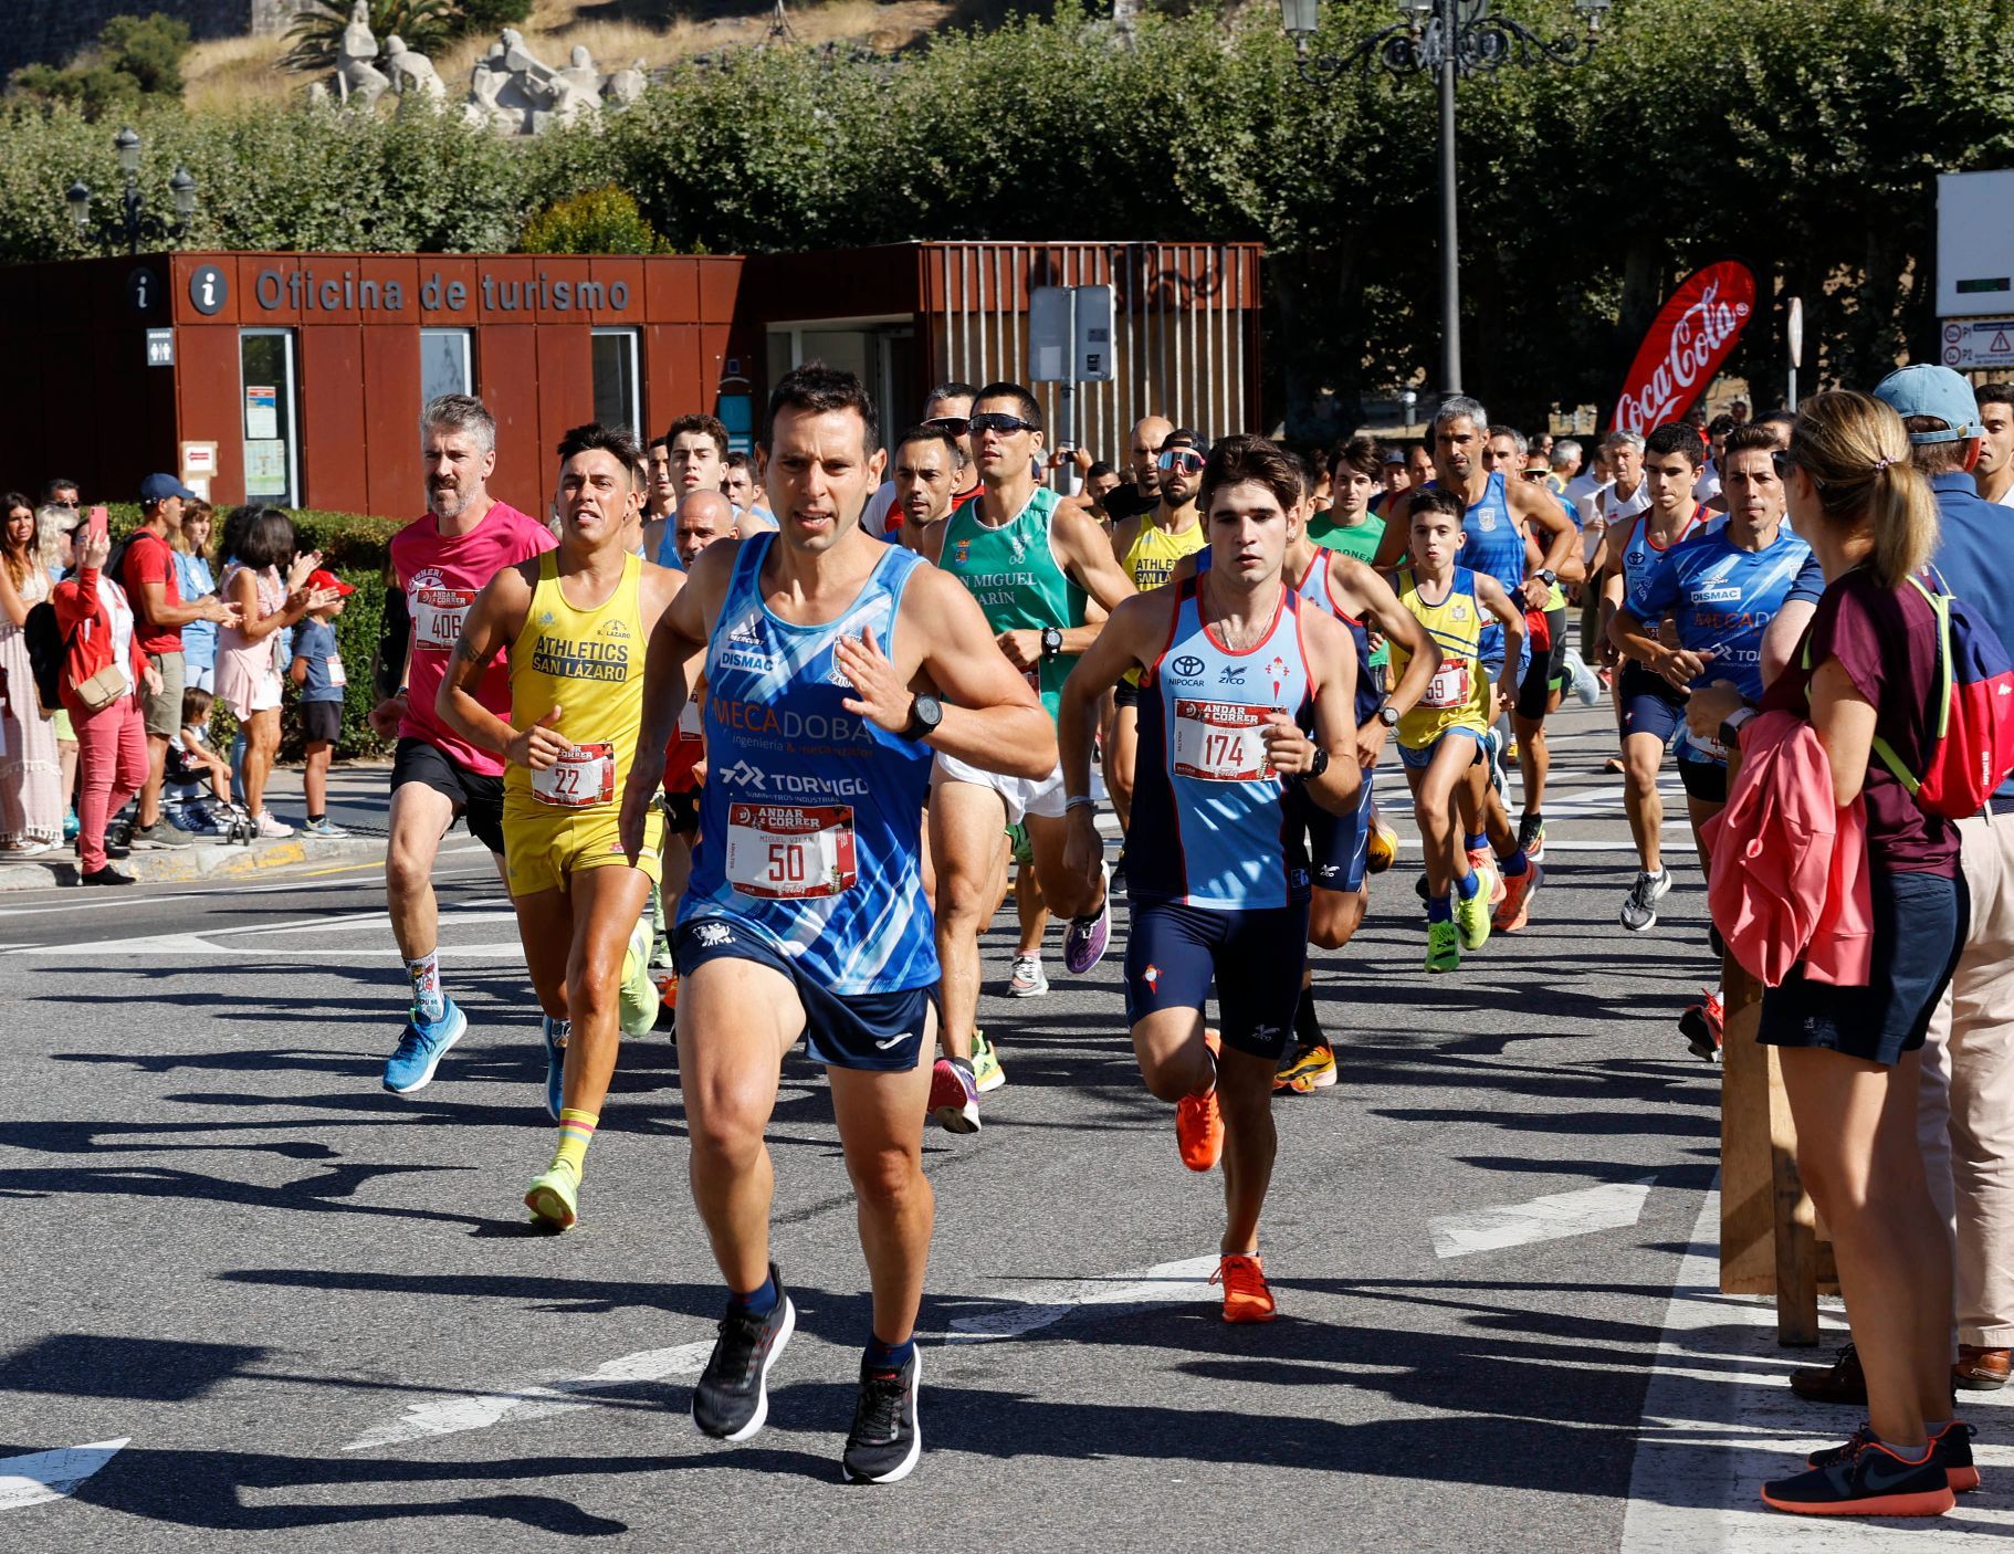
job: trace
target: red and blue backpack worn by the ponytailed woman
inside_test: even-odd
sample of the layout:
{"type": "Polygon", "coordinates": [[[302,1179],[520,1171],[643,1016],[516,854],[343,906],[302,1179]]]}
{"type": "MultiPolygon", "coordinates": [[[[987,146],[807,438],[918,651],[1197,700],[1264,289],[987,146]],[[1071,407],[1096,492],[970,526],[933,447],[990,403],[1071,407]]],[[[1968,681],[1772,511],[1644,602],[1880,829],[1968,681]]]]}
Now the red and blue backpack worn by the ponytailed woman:
{"type": "MultiPolygon", "coordinates": [[[[1909,771],[1885,739],[1875,757],[1917,807],[1946,819],[1970,819],[2014,771],[2014,662],[1994,628],[1925,568],[1931,588],[1909,578],[1937,616],[1935,743],[1921,775],[1909,771]]],[[[1807,646],[1809,658],[1809,646],[1807,646]]]]}

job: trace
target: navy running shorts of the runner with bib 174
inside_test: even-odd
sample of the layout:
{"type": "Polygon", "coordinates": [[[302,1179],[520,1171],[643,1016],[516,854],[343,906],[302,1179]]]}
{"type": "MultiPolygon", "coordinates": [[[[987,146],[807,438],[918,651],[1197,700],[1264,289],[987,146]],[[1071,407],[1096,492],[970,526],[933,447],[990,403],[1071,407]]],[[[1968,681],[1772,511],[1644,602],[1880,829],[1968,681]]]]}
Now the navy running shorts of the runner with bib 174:
{"type": "Polygon", "coordinates": [[[1277,1063],[1293,1037],[1305,968],[1307,902],[1253,912],[1134,902],[1126,1019],[1138,1025],[1162,1008],[1200,1015],[1214,980],[1225,1045],[1277,1063]]]}

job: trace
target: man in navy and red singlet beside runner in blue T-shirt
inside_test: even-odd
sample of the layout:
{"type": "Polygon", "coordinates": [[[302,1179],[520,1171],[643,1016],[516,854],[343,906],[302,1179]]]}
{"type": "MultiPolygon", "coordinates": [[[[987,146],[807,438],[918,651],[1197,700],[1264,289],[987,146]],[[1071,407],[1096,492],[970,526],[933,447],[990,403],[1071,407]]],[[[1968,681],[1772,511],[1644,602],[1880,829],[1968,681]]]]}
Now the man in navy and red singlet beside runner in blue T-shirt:
{"type": "MultiPolygon", "coordinates": [[[[1595,552],[1595,564],[1603,568],[1603,632],[1617,656],[1621,638],[1615,634],[1615,612],[1623,608],[1623,600],[1641,598],[1658,564],[1708,521],[1706,509],[1692,499],[1698,475],[1700,439],[1692,427],[1684,421],[1658,427],[1643,447],[1643,487],[1649,505],[1619,527],[1611,521],[1601,550],[1595,552]]],[[[1658,628],[1664,622],[1641,624],[1658,628]]],[[[1658,769],[1664,765],[1672,735],[1686,721],[1682,684],[1633,660],[1623,660],[1615,678],[1623,809],[1637,849],[1637,878],[1621,906],[1621,924],[1631,934],[1658,926],[1658,902],[1672,890],[1672,872],[1664,866],[1664,799],[1658,795],[1658,769]]]]}

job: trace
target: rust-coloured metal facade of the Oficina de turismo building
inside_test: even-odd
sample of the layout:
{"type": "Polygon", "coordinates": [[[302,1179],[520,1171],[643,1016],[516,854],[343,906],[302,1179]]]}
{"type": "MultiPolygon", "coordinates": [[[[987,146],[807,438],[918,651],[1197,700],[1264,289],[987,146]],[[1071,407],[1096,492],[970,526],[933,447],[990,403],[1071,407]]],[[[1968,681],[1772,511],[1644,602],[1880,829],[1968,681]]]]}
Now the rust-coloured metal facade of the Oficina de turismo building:
{"type": "MultiPolygon", "coordinates": [[[[1160,413],[1210,435],[1259,427],[1259,248],[1249,244],[904,244],[753,258],[465,254],[157,254],[0,270],[0,487],[64,473],[87,497],[135,493],[215,443],[209,493],[246,495],[246,330],[292,350],[290,489],[304,507],[415,513],[421,332],[467,330],[471,380],[497,417],[493,489],[548,499],[548,455],[596,411],[596,330],[632,330],[644,427],[761,405],[789,342],[886,336],[878,388],[1017,378],[1027,296],[1116,288],[1116,380],[1084,384],[1082,441],[1124,457],[1160,413]],[[798,324],[792,334],[779,324],[798,324]],[[149,366],[167,330],[173,362],[149,366]],[[878,332],[878,334],[876,334],[878,332]]],[[[810,352],[806,352],[810,354],[810,352]]],[[[1055,415],[1055,386],[1037,391],[1055,415]]],[[[886,405],[900,427],[920,405],[886,405]]],[[[757,411],[759,417],[759,411],[757,411]]],[[[759,427],[757,427],[759,433],[759,427]]]]}

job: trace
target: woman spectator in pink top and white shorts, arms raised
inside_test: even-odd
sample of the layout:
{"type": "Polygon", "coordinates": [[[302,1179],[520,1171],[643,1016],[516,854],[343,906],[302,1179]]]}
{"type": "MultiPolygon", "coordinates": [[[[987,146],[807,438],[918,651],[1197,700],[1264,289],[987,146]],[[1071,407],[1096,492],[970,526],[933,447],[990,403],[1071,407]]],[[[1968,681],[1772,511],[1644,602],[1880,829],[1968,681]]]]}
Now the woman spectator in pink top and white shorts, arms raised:
{"type": "Polygon", "coordinates": [[[246,811],[262,837],[294,835],[266,809],[266,777],[280,751],[280,652],[278,632],[298,626],[312,608],[308,574],[320,552],[294,554],[294,525],[278,507],[240,507],[226,521],[236,533],[236,558],[224,570],[224,598],[238,606],[238,624],[218,632],[218,701],[246,737],[238,773],[246,811]],[[282,580],[280,568],[286,566],[282,580]]]}

